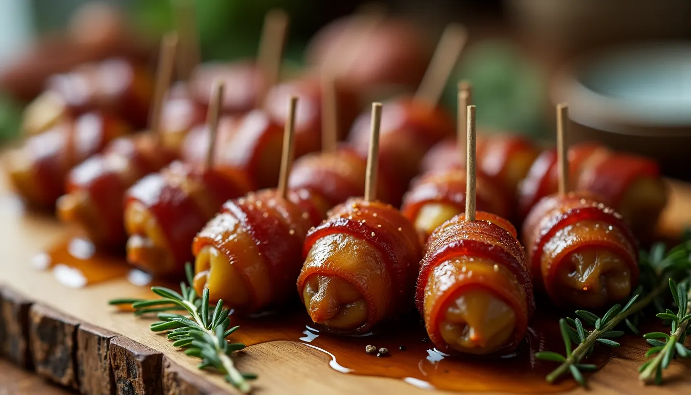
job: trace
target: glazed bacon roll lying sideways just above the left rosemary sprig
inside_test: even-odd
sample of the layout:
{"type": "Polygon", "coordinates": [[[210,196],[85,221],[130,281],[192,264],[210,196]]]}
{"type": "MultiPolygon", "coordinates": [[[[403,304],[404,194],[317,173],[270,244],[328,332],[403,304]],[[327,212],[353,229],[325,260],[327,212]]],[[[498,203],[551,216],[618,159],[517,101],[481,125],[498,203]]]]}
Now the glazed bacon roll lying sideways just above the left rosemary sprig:
{"type": "Polygon", "coordinates": [[[194,288],[252,313],[294,298],[307,230],[330,205],[305,189],[249,193],[227,201],[192,244],[194,288]]]}

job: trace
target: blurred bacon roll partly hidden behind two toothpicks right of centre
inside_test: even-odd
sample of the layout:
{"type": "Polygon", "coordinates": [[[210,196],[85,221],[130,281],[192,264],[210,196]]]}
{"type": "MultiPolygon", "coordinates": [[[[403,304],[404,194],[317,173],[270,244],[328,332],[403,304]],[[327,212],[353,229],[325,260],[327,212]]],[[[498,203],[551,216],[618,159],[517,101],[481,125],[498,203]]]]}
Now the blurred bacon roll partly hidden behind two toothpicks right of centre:
{"type": "MultiPolygon", "coordinates": [[[[522,136],[503,133],[478,134],[475,142],[477,169],[493,178],[509,196],[515,196],[518,184],[528,174],[540,151],[522,136]]],[[[464,167],[456,140],[446,139],[428,151],[422,160],[423,172],[464,167]]]]}

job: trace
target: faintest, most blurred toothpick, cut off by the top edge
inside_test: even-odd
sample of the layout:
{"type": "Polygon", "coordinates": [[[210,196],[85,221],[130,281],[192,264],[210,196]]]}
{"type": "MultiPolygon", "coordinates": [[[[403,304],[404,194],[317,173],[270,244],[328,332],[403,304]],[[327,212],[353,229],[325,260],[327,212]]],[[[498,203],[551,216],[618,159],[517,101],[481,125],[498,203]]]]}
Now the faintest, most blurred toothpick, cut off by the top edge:
{"type": "Polygon", "coordinates": [[[197,12],[194,0],[171,0],[176,30],[180,37],[178,50],[178,79],[187,80],[200,63],[197,12]]]}

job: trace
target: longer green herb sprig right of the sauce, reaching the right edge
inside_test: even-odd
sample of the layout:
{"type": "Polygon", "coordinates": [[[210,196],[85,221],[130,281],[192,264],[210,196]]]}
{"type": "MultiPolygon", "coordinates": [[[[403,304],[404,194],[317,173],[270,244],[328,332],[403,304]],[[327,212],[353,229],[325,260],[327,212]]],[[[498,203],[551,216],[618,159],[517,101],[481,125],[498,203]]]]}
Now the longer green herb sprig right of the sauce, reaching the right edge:
{"type": "MultiPolygon", "coordinates": [[[[620,344],[612,338],[624,334],[623,331],[615,330],[621,322],[625,322],[627,327],[638,334],[638,329],[636,329],[638,313],[641,313],[650,304],[659,308],[663,306],[661,295],[668,288],[670,279],[688,278],[691,270],[691,238],[672,248],[667,254],[665,254],[665,248],[662,244],[654,245],[650,254],[641,251],[639,266],[641,268],[641,285],[634,291],[634,296],[623,308],[621,304],[615,304],[601,318],[589,311],[579,310],[576,311],[579,318],[575,320],[562,318],[559,321],[566,355],[562,356],[553,351],[536,353],[538,359],[560,362],[560,365],[547,375],[546,379],[549,383],[553,383],[562,375],[570,373],[578,384],[585,387],[583,371],[594,371],[597,367],[596,365],[581,363],[581,360],[593,351],[594,345],[600,343],[608,347],[619,347],[620,344]],[[583,322],[594,327],[594,329],[591,331],[584,329],[583,322]],[[572,349],[572,344],[578,346],[572,349]]],[[[664,310],[663,307],[661,310],[664,310]]]]}

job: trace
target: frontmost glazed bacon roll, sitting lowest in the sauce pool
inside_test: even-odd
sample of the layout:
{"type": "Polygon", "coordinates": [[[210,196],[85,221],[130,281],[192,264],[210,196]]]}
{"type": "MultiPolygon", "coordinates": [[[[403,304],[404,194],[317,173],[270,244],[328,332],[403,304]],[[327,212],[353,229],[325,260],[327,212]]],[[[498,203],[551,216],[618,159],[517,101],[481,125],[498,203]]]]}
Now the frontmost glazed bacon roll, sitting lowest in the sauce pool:
{"type": "Polygon", "coordinates": [[[415,289],[430,340],[444,352],[509,352],[535,310],[524,251],[509,221],[477,212],[430,236],[415,289]]]}

